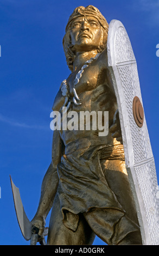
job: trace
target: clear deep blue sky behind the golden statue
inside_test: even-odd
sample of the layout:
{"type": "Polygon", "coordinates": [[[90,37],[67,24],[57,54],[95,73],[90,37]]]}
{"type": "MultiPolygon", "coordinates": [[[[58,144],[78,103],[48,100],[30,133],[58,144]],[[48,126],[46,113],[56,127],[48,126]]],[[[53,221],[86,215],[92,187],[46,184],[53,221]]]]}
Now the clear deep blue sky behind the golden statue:
{"type": "MultiPolygon", "coordinates": [[[[70,71],[62,47],[74,8],[97,7],[110,23],[128,32],[138,65],[157,178],[159,1],[1,0],[0,2],[0,244],[29,245],[16,220],[9,175],[20,188],[31,220],[41,182],[51,161],[50,112],[61,82],[70,71]]],[[[49,216],[47,218],[47,225],[49,216]]],[[[104,244],[96,239],[94,244],[104,244]]]]}

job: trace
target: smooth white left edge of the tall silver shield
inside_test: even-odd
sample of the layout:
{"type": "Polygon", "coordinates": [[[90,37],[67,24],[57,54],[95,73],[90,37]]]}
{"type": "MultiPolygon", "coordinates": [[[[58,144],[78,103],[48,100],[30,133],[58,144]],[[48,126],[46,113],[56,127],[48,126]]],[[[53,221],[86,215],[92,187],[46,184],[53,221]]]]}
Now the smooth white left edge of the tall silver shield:
{"type": "MultiPolygon", "coordinates": [[[[128,172],[130,186],[132,189],[133,197],[135,199],[138,222],[141,229],[141,235],[143,240],[143,245],[151,245],[151,239],[149,234],[149,227],[147,222],[147,216],[144,209],[143,197],[141,191],[139,189],[135,166],[133,163],[133,148],[132,148],[132,139],[130,132],[130,124],[129,124],[129,116],[125,106],[125,102],[120,102],[120,98],[124,99],[122,84],[119,78],[119,73],[117,69],[116,63],[116,54],[115,54],[115,36],[117,29],[122,27],[125,29],[122,22],[118,20],[112,20],[109,25],[108,38],[107,38],[107,56],[108,56],[108,68],[111,74],[111,78],[113,81],[113,87],[115,90],[115,94],[117,97],[117,105],[119,110],[119,119],[120,126],[122,130],[123,137],[123,145],[124,145],[124,153],[125,153],[125,165],[128,172]],[[120,94],[120,96],[119,96],[120,94]],[[121,96],[122,95],[122,96],[121,96]],[[124,113],[124,118],[123,118],[124,113]],[[125,128],[126,127],[126,128],[125,128]]],[[[126,31],[126,29],[125,29],[126,31]]],[[[127,33],[127,32],[126,32],[127,33]]],[[[130,42],[131,44],[131,42],[130,42]]],[[[133,51],[133,50],[132,50],[133,51]]],[[[129,64],[136,64],[136,59],[134,56],[133,60],[130,60],[129,64]]],[[[145,120],[145,118],[144,118],[145,120]]]]}

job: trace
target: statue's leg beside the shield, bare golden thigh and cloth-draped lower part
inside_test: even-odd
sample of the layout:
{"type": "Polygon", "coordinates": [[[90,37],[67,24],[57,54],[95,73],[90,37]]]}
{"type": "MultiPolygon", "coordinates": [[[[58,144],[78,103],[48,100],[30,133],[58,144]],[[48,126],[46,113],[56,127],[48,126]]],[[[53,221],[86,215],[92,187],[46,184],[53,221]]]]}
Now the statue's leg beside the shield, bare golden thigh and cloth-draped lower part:
{"type": "Polygon", "coordinates": [[[100,164],[107,184],[126,213],[116,209],[94,208],[84,214],[86,221],[108,245],[141,245],[141,233],[125,162],[105,160],[100,164]]]}

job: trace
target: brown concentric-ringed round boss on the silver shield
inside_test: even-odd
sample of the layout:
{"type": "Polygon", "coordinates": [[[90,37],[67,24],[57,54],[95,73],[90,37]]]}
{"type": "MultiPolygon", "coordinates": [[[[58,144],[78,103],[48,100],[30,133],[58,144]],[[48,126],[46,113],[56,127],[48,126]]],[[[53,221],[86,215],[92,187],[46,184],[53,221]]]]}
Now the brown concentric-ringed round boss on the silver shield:
{"type": "Polygon", "coordinates": [[[133,99],[132,110],[133,117],[135,119],[137,126],[142,127],[144,122],[144,110],[142,103],[137,96],[135,96],[133,99]]]}

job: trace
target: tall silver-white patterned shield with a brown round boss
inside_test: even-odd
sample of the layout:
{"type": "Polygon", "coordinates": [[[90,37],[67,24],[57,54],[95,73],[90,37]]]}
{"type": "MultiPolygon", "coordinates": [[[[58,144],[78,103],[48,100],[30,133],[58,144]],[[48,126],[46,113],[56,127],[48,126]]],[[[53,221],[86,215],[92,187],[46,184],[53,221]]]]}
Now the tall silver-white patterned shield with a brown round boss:
{"type": "Polygon", "coordinates": [[[143,245],[159,244],[158,184],[144,115],[136,59],[123,24],[112,20],[108,66],[117,97],[125,164],[135,198],[143,245]]]}

